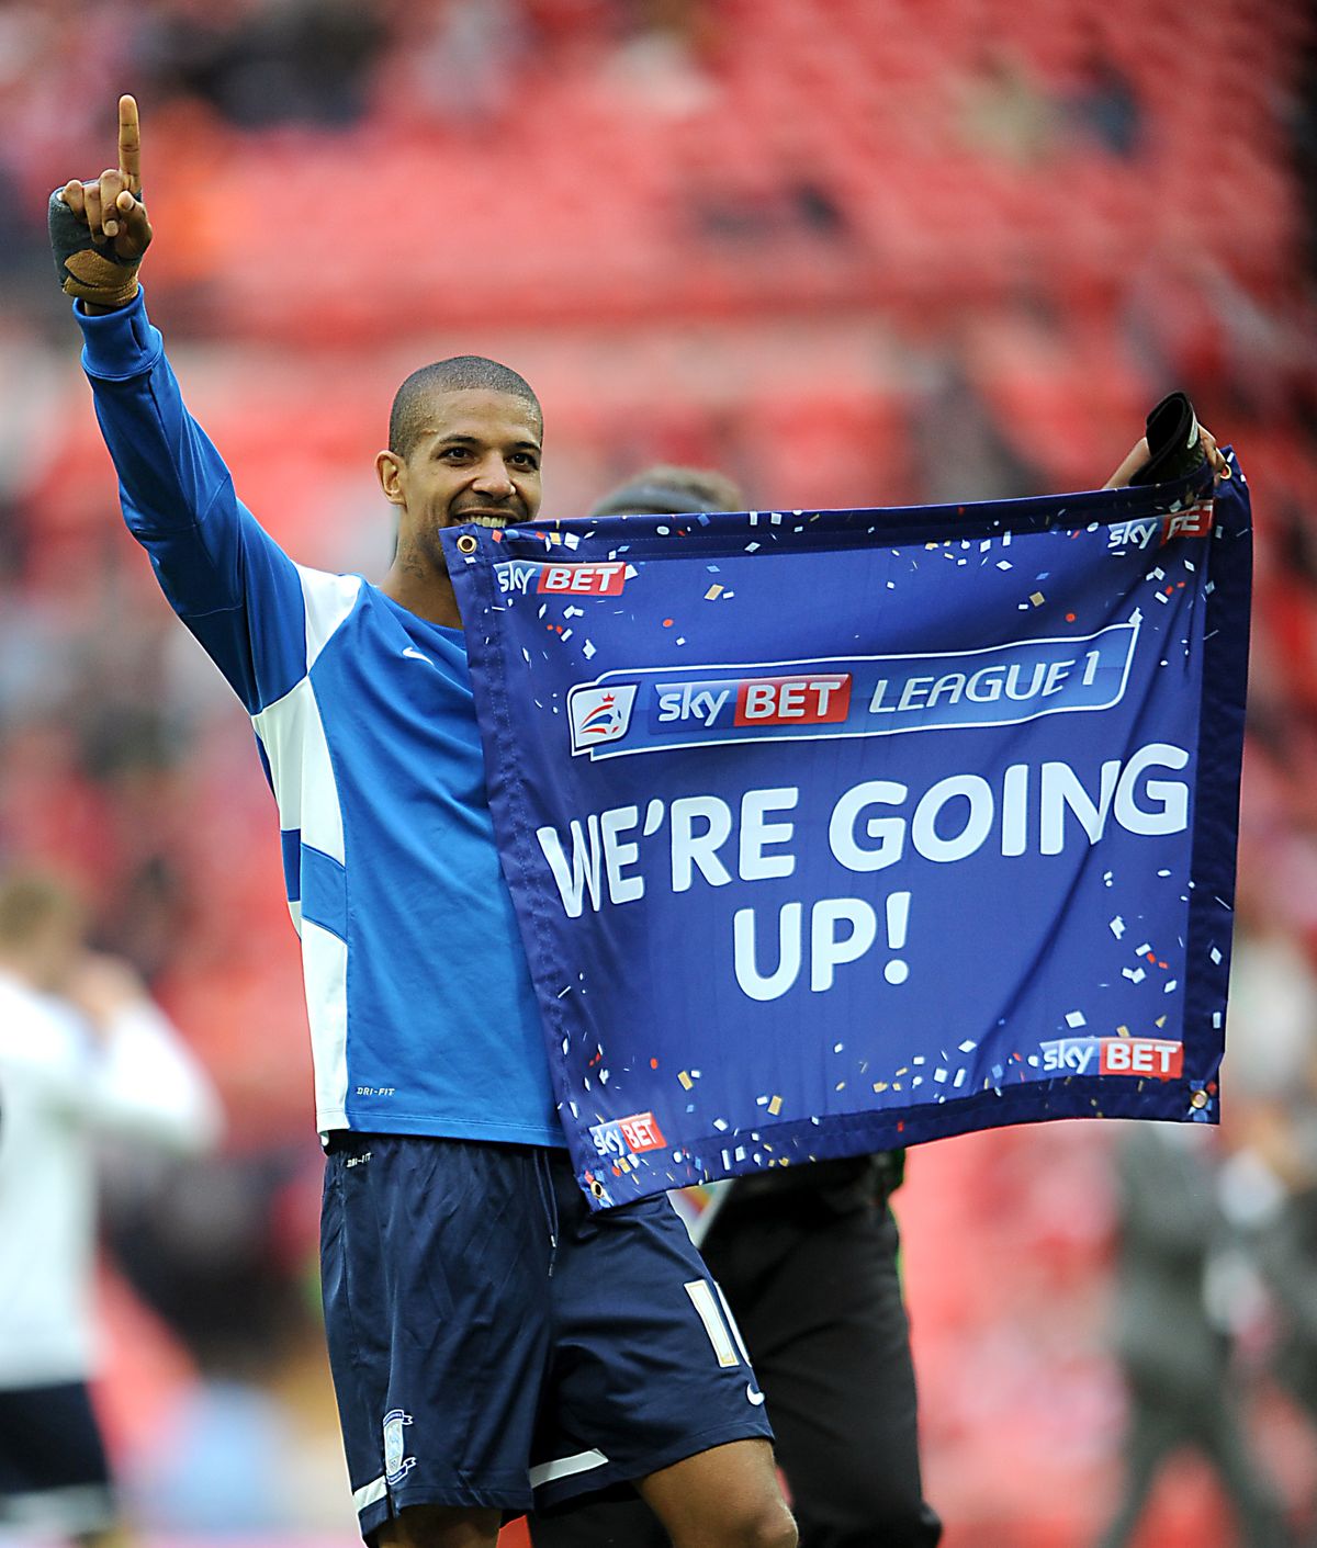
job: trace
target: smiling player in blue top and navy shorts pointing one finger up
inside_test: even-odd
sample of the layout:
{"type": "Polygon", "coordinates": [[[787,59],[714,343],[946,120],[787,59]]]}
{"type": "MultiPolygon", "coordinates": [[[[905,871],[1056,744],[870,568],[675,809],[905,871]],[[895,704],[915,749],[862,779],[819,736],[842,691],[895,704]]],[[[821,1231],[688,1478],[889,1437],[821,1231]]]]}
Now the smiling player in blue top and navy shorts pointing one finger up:
{"type": "Polygon", "coordinates": [[[389,573],[307,570],[239,502],[147,320],[132,98],[118,166],[57,190],[50,224],[124,517],[279,807],[363,1536],[493,1548],[505,1514],[634,1483],[679,1548],[793,1548],[762,1398],[683,1224],[665,1198],[592,1217],[575,1183],[499,868],[438,534],[535,517],[535,393],[479,356],[414,372],[377,458],[389,573]]]}

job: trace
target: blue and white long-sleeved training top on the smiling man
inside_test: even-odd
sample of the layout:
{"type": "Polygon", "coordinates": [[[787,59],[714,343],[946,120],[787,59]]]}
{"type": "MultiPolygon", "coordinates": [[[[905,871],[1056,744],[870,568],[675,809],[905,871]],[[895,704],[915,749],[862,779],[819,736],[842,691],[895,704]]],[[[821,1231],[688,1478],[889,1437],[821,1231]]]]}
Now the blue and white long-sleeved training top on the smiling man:
{"type": "Polygon", "coordinates": [[[246,706],[279,803],[319,1128],[562,1144],[462,632],[262,531],[141,294],[74,314],[124,520],[246,706]]]}

